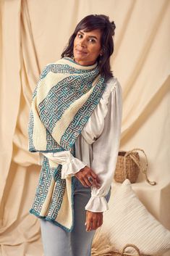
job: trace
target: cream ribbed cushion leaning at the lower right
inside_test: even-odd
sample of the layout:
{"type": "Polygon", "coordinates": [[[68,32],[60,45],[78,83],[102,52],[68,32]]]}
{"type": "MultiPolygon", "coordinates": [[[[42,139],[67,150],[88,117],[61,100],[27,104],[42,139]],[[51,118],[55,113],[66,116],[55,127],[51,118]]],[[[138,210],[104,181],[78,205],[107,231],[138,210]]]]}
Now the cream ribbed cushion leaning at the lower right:
{"type": "Polygon", "coordinates": [[[161,255],[170,249],[170,231],[148,212],[128,179],[116,190],[111,208],[111,241],[116,249],[135,244],[144,255],[161,255]]]}

